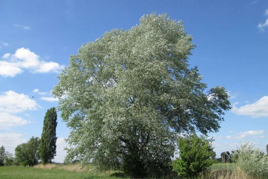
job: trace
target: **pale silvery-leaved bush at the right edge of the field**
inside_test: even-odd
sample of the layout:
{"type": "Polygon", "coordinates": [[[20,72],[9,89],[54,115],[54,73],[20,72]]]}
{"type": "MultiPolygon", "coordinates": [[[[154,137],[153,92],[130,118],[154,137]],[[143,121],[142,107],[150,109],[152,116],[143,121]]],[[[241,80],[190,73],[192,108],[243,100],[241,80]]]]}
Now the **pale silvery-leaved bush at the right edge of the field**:
{"type": "Polygon", "coordinates": [[[235,158],[237,165],[250,175],[268,177],[268,156],[248,141],[240,142],[235,158]]]}

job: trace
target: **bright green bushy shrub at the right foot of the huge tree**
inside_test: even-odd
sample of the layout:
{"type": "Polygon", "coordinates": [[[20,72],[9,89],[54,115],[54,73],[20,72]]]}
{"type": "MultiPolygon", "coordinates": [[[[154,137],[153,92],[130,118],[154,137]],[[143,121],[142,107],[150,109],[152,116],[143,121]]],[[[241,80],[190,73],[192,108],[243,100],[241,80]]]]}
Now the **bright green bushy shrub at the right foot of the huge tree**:
{"type": "Polygon", "coordinates": [[[211,150],[211,143],[204,136],[198,137],[194,134],[187,138],[179,138],[178,149],[180,157],[172,163],[172,166],[173,171],[180,176],[197,176],[213,164],[211,158],[214,157],[214,152],[211,150]]]}

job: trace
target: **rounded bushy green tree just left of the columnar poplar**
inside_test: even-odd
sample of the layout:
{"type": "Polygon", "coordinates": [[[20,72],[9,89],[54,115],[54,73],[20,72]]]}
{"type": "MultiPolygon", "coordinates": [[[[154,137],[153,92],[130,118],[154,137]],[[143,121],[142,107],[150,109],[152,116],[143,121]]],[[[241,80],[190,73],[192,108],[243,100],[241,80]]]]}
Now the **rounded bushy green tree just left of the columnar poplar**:
{"type": "Polygon", "coordinates": [[[38,163],[40,159],[39,145],[39,138],[32,137],[27,143],[20,144],[15,148],[15,156],[20,165],[34,166],[38,163]]]}

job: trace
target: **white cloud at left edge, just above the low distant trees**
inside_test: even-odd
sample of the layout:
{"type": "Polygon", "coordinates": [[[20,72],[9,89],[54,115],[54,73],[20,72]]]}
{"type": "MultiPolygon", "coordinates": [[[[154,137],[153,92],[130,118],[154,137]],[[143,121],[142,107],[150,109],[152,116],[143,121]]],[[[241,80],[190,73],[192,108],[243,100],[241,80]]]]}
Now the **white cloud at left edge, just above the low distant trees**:
{"type": "Polygon", "coordinates": [[[37,110],[40,106],[28,95],[6,91],[0,94],[0,128],[6,129],[29,123],[29,121],[14,114],[27,110],[37,110]]]}

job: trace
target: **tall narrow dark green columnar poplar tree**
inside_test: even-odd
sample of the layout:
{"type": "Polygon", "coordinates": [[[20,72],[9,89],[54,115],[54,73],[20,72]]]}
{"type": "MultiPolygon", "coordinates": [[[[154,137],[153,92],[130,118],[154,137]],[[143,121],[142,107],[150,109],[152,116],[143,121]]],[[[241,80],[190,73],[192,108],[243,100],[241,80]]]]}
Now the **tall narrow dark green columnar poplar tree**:
{"type": "Polygon", "coordinates": [[[47,110],[44,117],[44,126],[40,139],[40,157],[43,164],[50,163],[56,156],[56,127],[57,112],[55,107],[47,110]]]}

